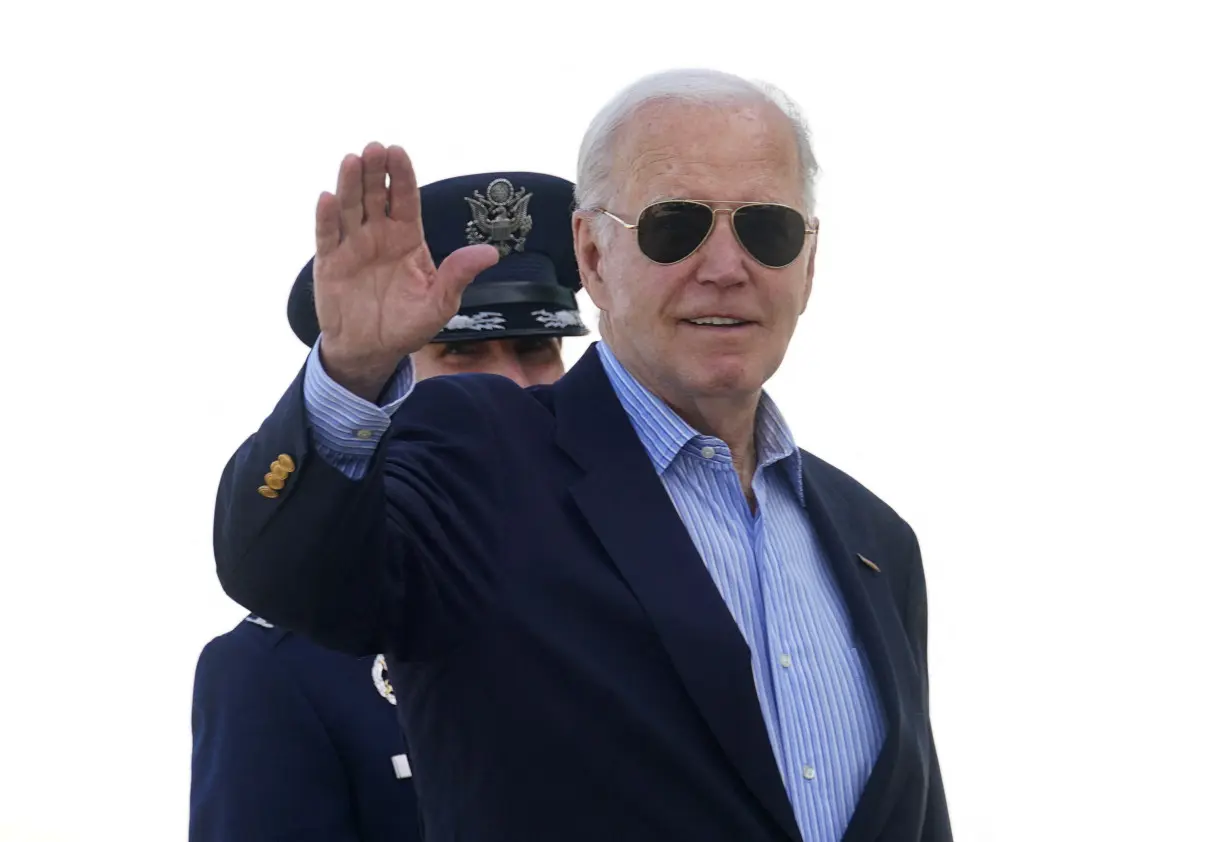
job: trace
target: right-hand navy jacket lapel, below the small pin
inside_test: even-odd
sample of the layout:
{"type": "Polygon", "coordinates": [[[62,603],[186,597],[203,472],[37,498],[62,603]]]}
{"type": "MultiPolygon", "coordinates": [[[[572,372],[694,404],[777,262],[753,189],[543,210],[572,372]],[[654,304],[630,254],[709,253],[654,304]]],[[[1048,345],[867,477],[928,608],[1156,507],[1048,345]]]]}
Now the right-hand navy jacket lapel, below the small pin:
{"type": "Polygon", "coordinates": [[[834,513],[839,510],[827,499],[820,472],[811,460],[803,465],[807,514],[833,565],[855,634],[867,653],[884,710],[884,745],[843,836],[844,842],[863,842],[878,838],[900,790],[905,709],[898,676],[899,660],[908,653],[902,650],[900,631],[892,624],[898,610],[887,578],[859,559],[857,548],[849,546],[836,525],[834,513]]]}

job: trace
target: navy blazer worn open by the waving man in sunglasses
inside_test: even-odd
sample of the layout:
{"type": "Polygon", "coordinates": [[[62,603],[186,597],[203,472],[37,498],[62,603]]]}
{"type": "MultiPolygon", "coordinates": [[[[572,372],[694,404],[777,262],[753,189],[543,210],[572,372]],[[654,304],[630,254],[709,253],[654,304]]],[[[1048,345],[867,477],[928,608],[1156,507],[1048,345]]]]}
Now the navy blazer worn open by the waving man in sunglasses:
{"type": "MultiPolygon", "coordinates": [[[[595,349],[549,387],[418,384],[358,482],[315,452],[301,377],[223,474],[219,579],[386,654],[426,840],[798,842],[748,647],[595,349]]],[[[845,838],[950,840],[918,542],[811,455],[804,487],[888,724],[845,838]]]]}

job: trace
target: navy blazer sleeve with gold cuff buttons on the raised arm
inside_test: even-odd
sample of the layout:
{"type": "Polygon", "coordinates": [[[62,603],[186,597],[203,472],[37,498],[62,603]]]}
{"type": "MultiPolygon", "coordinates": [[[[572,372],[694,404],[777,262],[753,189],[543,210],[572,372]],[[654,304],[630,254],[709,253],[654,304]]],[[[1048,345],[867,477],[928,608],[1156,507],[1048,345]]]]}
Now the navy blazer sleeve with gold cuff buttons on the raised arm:
{"type": "Polygon", "coordinates": [[[317,446],[326,431],[304,397],[311,365],[223,472],[214,513],[223,589],[339,651],[413,660],[455,644],[485,596],[492,524],[508,493],[496,404],[502,391],[520,390],[493,375],[417,384],[387,431],[371,436],[367,466],[346,471],[317,446]],[[276,498],[262,497],[280,455],[294,470],[276,498]]]}

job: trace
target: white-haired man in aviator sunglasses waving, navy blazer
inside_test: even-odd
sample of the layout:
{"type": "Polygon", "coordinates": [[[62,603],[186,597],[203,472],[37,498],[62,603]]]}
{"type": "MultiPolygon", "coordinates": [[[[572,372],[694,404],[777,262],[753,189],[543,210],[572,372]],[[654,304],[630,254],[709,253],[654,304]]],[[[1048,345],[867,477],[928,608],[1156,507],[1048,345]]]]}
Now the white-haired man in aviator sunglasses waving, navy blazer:
{"type": "Polygon", "coordinates": [[[601,342],[531,388],[408,361],[517,247],[506,220],[437,267],[378,144],[321,197],[321,337],[226,466],[218,572],[385,653],[426,838],[951,838],[918,542],[763,391],[812,288],[814,175],[772,91],[620,93],[573,220],[601,342]]]}

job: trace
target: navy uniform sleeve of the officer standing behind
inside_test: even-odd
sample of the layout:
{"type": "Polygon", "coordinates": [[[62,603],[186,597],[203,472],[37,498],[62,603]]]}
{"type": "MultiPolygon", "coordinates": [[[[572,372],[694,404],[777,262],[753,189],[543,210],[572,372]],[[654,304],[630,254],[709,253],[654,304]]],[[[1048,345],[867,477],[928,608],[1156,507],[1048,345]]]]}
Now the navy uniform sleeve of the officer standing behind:
{"type": "Polygon", "coordinates": [[[346,771],[277,651],[210,642],[192,691],[189,842],[347,842],[346,771]]]}

